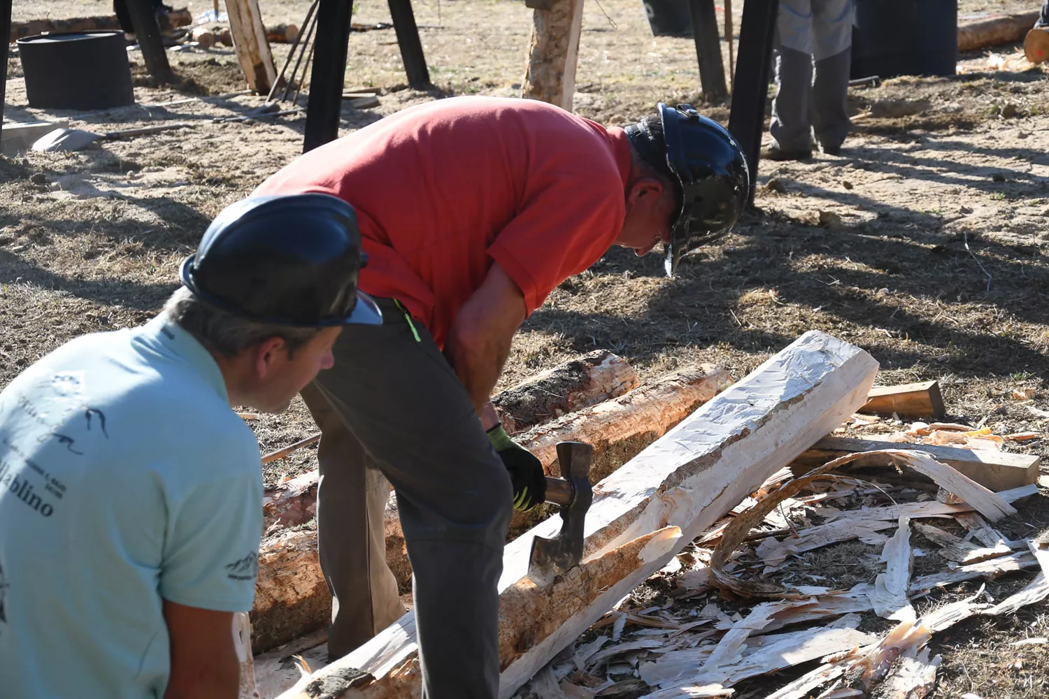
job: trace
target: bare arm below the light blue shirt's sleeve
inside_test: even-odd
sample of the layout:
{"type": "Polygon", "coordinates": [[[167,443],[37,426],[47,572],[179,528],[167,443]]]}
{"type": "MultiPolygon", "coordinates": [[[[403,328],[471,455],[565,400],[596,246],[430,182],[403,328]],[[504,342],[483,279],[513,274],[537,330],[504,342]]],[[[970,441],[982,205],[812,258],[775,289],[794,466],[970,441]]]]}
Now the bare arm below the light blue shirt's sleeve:
{"type": "Polygon", "coordinates": [[[171,676],[164,699],[237,699],[240,663],[233,612],[164,600],[171,639],[171,676]]]}

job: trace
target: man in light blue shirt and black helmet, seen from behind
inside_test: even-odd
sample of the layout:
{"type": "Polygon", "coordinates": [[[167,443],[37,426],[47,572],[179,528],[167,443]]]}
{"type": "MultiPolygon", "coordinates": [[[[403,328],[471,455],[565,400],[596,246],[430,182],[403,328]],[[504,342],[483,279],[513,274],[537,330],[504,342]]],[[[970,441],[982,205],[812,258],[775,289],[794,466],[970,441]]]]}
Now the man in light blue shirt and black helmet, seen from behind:
{"type": "Polygon", "coordinates": [[[237,202],[164,312],[0,393],[0,695],[235,699],[262,483],[231,406],[283,410],[343,325],[381,322],[360,265],[345,202],[237,202]]]}

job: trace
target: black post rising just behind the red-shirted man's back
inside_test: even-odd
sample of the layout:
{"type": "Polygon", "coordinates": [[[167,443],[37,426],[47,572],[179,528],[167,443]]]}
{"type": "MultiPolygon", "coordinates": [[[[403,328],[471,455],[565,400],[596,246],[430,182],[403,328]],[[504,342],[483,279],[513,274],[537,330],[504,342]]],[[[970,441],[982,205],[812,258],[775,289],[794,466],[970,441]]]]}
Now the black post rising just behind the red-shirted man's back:
{"type": "Polygon", "coordinates": [[[317,8],[314,71],[309,79],[303,153],[339,137],[352,14],[354,0],[320,0],[317,8]]]}

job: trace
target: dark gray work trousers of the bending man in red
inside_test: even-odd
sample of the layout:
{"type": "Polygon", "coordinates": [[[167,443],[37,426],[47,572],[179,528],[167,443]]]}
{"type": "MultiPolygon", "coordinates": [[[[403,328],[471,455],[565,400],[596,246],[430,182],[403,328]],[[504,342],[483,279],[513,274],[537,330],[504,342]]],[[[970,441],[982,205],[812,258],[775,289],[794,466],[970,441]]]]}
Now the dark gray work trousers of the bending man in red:
{"type": "Polygon", "coordinates": [[[413,570],[423,696],[494,699],[510,477],[431,335],[419,323],[413,331],[392,301],[377,301],[383,325],[346,326],[335,367],[302,394],[323,435],[317,520],[333,595],[328,654],[349,653],[402,611],[384,555],[385,477],[413,570]]]}

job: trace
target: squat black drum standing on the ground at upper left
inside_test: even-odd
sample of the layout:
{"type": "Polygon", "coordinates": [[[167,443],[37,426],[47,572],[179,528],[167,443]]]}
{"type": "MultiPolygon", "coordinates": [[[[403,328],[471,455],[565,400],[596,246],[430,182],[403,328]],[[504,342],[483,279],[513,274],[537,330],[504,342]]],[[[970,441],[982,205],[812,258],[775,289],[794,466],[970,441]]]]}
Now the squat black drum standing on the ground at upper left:
{"type": "Polygon", "coordinates": [[[134,104],[123,31],[77,31],[18,40],[30,107],[108,109],[134,104]]]}

